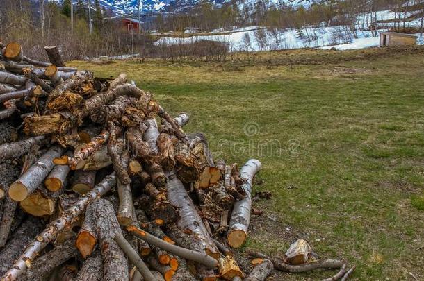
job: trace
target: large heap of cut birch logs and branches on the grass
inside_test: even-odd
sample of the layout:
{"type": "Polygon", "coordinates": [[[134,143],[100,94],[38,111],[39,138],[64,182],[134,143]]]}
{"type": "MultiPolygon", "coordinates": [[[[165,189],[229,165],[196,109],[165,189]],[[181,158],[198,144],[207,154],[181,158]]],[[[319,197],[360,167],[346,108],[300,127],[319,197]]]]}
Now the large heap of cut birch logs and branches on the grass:
{"type": "Polygon", "coordinates": [[[170,117],[124,74],[65,67],[56,47],[50,62],[0,48],[1,280],[347,274],[338,260],[308,260],[306,246],[285,259],[256,253],[243,272],[230,248],[247,237],[258,160],[239,170],[213,159],[203,134],[181,129],[187,114],[170,117]]]}

